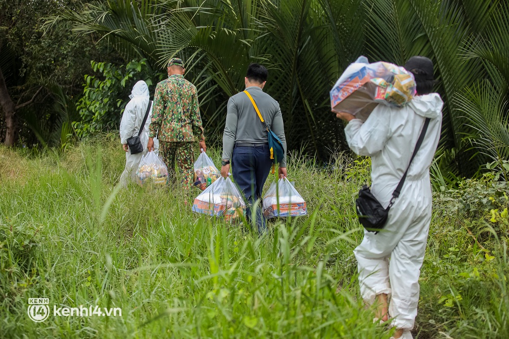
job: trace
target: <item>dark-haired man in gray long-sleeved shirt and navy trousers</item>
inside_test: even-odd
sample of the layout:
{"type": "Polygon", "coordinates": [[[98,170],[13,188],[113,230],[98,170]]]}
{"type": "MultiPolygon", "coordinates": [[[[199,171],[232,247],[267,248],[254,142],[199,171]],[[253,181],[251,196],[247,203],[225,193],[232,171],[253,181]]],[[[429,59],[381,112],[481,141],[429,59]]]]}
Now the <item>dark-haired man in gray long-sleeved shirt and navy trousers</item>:
{"type": "MultiPolygon", "coordinates": [[[[281,140],[285,155],[279,162],[279,178],[287,176],[286,139],[281,109],[276,100],[262,91],[267,82],[268,71],[262,65],[251,64],[245,77],[246,91],[258,106],[269,129],[281,140]]],[[[238,93],[228,101],[228,113],[223,133],[223,154],[221,175],[226,178],[230,171],[230,160],[233,166],[233,178],[246,197],[247,218],[256,223],[260,233],[265,232],[265,218],[260,203],[251,216],[252,206],[262,199],[262,190],[272,167],[268,146],[267,130],[257,115],[248,95],[238,93]],[[254,219],[254,220],[253,220],[254,219]]]]}

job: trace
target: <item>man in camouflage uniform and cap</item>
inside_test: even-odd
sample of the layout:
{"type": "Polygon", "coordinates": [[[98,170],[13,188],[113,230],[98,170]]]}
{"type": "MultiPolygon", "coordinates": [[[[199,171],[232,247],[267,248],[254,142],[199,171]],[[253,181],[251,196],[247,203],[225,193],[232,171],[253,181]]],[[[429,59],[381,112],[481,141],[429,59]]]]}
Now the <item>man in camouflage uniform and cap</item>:
{"type": "Polygon", "coordinates": [[[168,78],[156,86],[147,148],[153,149],[153,138],[157,135],[159,155],[168,166],[168,178],[176,178],[177,163],[183,176],[182,187],[188,189],[194,179],[192,143],[195,137],[204,152],[207,148],[196,87],[184,79],[184,71],[181,59],[171,59],[168,78]]]}

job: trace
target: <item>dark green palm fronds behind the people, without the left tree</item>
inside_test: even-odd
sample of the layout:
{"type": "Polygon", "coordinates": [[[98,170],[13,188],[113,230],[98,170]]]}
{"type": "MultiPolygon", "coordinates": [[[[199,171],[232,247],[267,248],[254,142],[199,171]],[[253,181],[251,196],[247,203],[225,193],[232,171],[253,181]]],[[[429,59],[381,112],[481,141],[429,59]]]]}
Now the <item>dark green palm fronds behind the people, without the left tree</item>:
{"type": "Polygon", "coordinates": [[[281,105],[290,149],[322,160],[345,148],[342,124],[328,104],[345,67],[360,54],[399,65],[426,55],[445,101],[440,167],[472,175],[486,161],[500,169],[508,156],[504,1],[125,0],[57,18],[73,22],[80,34],[105,36],[124,58],[147,58],[155,68],[181,56],[199,88],[209,134],[220,132],[225,103],[242,90],[246,66],[262,62],[270,69],[266,90],[281,105]]]}

